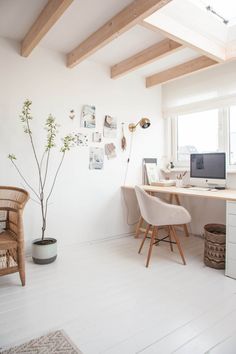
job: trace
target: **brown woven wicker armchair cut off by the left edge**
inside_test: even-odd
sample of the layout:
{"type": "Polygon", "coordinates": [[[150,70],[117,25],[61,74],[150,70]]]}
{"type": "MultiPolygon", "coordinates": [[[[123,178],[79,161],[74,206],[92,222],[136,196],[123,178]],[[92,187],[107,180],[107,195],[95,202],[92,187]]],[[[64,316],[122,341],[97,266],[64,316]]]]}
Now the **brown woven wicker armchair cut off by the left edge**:
{"type": "Polygon", "coordinates": [[[0,275],[20,273],[25,285],[24,232],[22,213],[28,192],[0,186],[0,275]]]}

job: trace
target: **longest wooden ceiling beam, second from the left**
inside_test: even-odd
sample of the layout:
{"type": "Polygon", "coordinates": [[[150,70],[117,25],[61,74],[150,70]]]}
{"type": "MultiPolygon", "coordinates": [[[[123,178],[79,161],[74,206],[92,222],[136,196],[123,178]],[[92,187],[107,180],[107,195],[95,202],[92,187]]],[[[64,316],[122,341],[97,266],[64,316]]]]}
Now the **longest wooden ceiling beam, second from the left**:
{"type": "Polygon", "coordinates": [[[73,68],[114,38],[129,30],[141,20],[172,0],[135,0],[91,34],[67,54],[67,66],[73,68]]]}

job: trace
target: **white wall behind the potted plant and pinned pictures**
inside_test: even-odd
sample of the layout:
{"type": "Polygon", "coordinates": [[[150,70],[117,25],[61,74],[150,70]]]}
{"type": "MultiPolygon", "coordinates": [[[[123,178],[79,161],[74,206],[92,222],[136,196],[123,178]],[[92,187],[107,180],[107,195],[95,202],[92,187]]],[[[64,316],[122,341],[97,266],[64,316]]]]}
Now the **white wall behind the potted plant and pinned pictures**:
{"type": "MultiPolygon", "coordinates": [[[[142,158],[162,156],[160,87],[147,90],[144,80],[138,77],[113,81],[108,67],[88,60],[68,69],[64,55],[43,48],[35,49],[29,58],[18,53],[17,43],[0,39],[0,184],[22,186],[7,159],[8,153],[17,155],[19,166],[30,181],[36,180],[32,152],[18,117],[26,98],[33,101],[33,133],[38,147],[42,146],[45,133],[42,123],[49,113],[57,117],[62,133],[88,131],[91,134],[91,129],[80,128],[79,118],[83,104],[93,104],[97,108],[97,130],[102,131],[106,114],[118,118],[119,137],[103,139],[102,143],[103,146],[105,142],[115,142],[118,157],[109,161],[105,158],[104,170],[91,171],[88,148],[75,148],[68,154],[51,200],[47,235],[64,245],[129,233],[133,227],[126,223],[120,188],[124,183],[129,144],[127,151],[122,152],[121,122],[126,123],[129,138],[129,122],[142,116],[152,121],[148,130],[138,128],[134,136],[127,184],[141,183],[142,158]],[[74,121],[68,118],[71,109],[76,112],[74,121]]],[[[53,163],[58,157],[56,154],[53,163]]],[[[25,211],[27,248],[39,235],[40,210],[30,201],[25,211]]]]}

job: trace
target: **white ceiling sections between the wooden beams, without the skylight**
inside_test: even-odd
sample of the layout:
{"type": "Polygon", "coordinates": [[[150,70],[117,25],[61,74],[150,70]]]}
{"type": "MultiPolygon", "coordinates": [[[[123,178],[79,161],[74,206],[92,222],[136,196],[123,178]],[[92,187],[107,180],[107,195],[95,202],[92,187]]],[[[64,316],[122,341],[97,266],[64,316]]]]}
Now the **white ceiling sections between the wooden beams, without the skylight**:
{"type": "MultiPolygon", "coordinates": [[[[68,53],[132,1],[74,0],[40,46],[68,53]]],[[[0,0],[0,36],[22,40],[46,3],[47,0],[0,0]]],[[[163,39],[160,33],[135,26],[92,55],[90,60],[111,66],[163,39]]],[[[36,51],[37,48],[34,53],[36,51]]],[[[130,75],[154,74],[196,56],[196,52],[185,49],[130,75]]]]}

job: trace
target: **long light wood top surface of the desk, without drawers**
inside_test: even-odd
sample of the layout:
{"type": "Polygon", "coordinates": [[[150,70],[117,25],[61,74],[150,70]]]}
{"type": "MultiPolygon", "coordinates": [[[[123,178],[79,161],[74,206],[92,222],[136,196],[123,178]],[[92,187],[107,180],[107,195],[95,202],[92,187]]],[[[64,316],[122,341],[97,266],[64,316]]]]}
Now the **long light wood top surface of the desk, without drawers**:
{"type": "MultiPolygon", "coordinates": [[[[236,190],[235,189],[224,189],[218,191],[208,191],[208,190],[193,190],[190,188],[180,188],[180,187],[160,187],[160,186],[148,186],[141,185],[147,192],[153,193],[168,193],[168,194],[178,194],[186,195],[192,197],[201,197],[201,198],[215,198],[221,200],[236,201],[236,190]]],[[[134,186],[123,186],[125,189],[134,189],[134,186]]]]}

